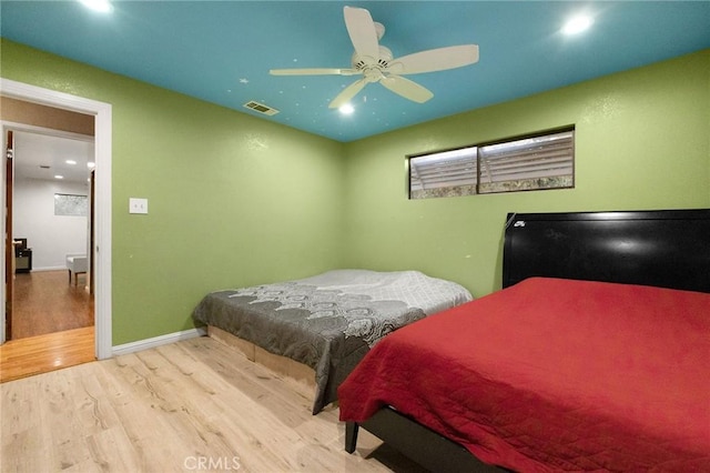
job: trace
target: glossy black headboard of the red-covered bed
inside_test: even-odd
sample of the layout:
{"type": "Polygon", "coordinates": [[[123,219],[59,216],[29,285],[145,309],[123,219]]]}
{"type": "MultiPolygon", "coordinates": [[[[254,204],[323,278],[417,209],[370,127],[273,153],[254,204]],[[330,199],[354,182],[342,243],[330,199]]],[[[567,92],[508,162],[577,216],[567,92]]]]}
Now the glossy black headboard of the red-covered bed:
{"type": "Polygon", "coordinates": [[[503,286],[535,275],[710,292],[710,209],[509,213],[503,286]]]}

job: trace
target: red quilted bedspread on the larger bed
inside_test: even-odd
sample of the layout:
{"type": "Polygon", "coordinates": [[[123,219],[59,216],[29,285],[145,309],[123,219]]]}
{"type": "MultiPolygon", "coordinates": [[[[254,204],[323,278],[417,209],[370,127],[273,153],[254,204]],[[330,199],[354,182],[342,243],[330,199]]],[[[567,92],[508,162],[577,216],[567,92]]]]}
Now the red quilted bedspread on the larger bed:
{"type": "Polygon", "coordinates": [[[710,471],[710,294],[532,278],[389,334],[338,397],[517,471],[710,471]]]}

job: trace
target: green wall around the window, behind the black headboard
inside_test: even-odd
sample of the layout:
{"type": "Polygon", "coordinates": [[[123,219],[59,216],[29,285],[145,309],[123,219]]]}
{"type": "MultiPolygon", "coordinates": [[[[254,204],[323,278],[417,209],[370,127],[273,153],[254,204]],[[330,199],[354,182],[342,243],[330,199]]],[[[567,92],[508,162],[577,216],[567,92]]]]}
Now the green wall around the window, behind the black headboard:
{"type": "MultiPolygon", "coordinates": [[[[475,85],[471,85],[475,87],[475,85]]],[[[346,264],[500,288],[508,212],[710,208],[710,50],[352,143],[346,264]],[[405,155],[576,125],[576,187],[409,201],[405,155]]]]}

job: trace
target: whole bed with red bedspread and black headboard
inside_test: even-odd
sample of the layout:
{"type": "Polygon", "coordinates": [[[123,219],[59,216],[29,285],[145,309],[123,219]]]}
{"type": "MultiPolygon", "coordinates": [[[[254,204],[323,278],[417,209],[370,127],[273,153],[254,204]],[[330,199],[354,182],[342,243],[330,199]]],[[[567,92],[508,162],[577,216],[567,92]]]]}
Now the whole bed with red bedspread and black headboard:
{"type": "Polygon", "coordinates": [[[710,210],[508,215],[504,289],[338,389],[433,471],[710,471],[710,210]],[[469,459],[473,459],[469,461],[469,459]]]}

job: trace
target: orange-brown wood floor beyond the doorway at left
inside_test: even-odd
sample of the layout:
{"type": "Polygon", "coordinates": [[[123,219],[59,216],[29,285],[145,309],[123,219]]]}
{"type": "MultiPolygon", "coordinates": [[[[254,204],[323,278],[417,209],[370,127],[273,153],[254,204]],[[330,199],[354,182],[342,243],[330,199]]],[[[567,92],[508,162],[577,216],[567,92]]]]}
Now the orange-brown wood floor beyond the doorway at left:
{"type": "Polygon", "coordinates": [[[0,346],[0,382],[95,360],[93,296],[67,271],[14,280],[12,340],[0,346]]]}

